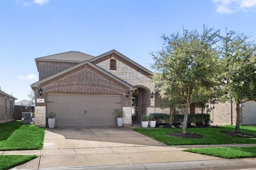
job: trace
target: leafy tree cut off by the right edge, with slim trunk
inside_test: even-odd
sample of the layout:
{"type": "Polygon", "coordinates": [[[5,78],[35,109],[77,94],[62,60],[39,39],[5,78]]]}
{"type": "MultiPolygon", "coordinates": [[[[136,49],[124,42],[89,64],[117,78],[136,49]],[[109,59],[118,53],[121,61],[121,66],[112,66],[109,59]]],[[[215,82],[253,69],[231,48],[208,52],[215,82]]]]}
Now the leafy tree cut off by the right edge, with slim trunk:
{"type": "Polygon", "coordinates": [[[256,44],[249,42],[244,34],[227,30],[220,40],[216,78],[220,82],[222,101],[236,102],[236,132],[240,132],[240,104],[256,101],[256,44]]]}

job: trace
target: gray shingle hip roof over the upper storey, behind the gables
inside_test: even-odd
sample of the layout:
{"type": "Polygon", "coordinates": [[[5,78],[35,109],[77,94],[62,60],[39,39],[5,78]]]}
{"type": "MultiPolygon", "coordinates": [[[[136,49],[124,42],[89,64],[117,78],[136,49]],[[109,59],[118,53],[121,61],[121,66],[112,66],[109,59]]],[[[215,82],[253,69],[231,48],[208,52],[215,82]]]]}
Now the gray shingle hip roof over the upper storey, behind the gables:
{"type": "Polygon", "coordinates": [[[81,53],[79,51],[68,51],[64,53],[58,53],[54,55],[48,55],[44,57],[39,57],[37,59],[50,59],[50,60],[65,60],[65,61],[86,61],[92,59],[94,56],[88,55],[86,53],[81,53]]]}

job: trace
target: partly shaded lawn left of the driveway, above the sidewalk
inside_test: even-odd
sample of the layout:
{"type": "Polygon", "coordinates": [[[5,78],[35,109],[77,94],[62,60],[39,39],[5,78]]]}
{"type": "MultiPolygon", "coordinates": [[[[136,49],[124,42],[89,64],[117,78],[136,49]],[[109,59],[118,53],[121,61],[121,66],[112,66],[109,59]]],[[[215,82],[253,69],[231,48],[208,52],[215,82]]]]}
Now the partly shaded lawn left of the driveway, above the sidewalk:
{"type": "Polygon", "coordinates": [[[21,121],[0,124],[0,150],[42,149],[44,128],[21,125],[21,121]]]}

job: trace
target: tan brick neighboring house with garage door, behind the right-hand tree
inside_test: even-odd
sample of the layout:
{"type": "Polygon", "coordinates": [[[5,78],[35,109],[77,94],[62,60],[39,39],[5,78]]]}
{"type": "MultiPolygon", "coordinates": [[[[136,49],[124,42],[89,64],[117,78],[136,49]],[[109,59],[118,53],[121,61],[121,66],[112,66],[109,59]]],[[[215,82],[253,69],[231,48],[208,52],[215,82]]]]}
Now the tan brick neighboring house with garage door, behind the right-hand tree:
{"type": "MultiPolygon", "coordinates": [[[[236,103],[217,103],[207,113],[216,125],[236,125],[236,103]]],[[[256,103],[246,101],[240,105],[240,125],[256,125],[256,103]]]]}

